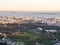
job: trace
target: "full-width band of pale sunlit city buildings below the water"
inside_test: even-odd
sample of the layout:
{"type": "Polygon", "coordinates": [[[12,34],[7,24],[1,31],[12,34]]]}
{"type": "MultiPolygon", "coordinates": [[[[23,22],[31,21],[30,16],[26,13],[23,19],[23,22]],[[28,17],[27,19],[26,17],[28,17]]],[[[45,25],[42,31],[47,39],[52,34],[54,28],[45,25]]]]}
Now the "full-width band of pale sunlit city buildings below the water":
{"type": "Polygon", "coordinates": [[[60,25],[60,18],[42,18],[30,16],[0,16],[0,24],[6,23],[28,23],[28,22],[41,22],[48,25],[60,25]]]}

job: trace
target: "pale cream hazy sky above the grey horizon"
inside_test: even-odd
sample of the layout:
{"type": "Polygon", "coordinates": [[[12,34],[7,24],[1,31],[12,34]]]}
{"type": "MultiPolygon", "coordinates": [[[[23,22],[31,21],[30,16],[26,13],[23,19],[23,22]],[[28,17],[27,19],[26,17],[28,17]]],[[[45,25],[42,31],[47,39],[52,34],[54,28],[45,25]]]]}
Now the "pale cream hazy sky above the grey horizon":
{"type": "Polygon", "coordinates": [[[0,0],[0,10],[60,11],[60,0],[0,0]]]}

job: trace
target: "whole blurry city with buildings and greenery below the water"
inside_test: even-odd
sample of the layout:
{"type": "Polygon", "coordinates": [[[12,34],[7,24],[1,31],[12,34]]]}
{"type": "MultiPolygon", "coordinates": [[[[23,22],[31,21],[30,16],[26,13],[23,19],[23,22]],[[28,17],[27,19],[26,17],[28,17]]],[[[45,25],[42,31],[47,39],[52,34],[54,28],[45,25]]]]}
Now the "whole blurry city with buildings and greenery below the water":
{"type": "Polygon", "coordinates": [[[59,17],[0,16],[1,45],[55,45],[59,34],[59,17]]]}

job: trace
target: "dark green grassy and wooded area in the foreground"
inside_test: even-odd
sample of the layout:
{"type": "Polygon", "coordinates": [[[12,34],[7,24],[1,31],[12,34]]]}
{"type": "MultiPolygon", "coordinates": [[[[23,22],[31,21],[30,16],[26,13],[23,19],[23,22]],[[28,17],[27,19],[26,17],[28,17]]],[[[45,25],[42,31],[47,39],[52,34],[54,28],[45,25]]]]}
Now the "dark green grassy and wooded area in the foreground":
{"type": "Polygon", "coordinates": [[[20,32],[18,35],[10,36],[10,38],[15,42],[25,42],[26,45],[32,45],[36,42],[50,45],[53,43],[53,39],[60,39],[60,32],[46,33],[39,30],[32,30],[25,33],[20,32]],[[38,34],[36,32],[38,32],[38,34]]]}

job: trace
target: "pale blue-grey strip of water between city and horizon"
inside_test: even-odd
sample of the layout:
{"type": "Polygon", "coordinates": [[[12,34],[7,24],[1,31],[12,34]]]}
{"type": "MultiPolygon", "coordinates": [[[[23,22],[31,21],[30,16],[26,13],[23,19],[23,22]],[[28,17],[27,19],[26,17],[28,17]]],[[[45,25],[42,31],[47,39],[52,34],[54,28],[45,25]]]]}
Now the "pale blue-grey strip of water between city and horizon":
{"type": "Polygon", "coordinates": [[[35,17],[60,17],[60,13],[15,13],[0,12],[0,16],[35,16],[35,17]]]}

